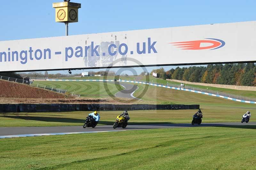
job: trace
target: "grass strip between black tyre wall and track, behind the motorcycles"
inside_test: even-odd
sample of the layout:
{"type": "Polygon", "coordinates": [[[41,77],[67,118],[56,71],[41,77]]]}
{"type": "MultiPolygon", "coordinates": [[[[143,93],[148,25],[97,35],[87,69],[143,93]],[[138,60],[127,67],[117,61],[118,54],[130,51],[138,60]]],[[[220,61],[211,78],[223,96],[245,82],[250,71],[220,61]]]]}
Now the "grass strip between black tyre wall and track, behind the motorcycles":
{"type": "MultiPolygon", "coordinates": [[[[251,122],[256,121],[255,108],[247,107],[201,107],[205,122],[240,122],[245,111],[252,112],[251,122]]],[[[129,124],[191,123],[196,110],[151,110],[129,111],[129,124]]],[[[54,112],[54,113],[0,113],[0,127],[28,126],[82,126],[90,112],[54,112]]],[[[121,111],[101,112],[98,125],[113,125],[121,111]]]]}

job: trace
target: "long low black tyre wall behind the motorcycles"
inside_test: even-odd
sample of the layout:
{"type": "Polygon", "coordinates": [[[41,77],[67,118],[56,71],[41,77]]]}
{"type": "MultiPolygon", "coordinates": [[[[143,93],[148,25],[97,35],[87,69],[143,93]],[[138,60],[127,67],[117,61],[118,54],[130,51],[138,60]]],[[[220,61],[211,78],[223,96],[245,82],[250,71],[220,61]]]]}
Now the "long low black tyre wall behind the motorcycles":
{"type": "Polygon", "coordinates": [[[0,113],[199,109],[200,105],[0,104],[0,113]]]}

